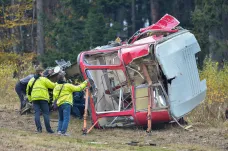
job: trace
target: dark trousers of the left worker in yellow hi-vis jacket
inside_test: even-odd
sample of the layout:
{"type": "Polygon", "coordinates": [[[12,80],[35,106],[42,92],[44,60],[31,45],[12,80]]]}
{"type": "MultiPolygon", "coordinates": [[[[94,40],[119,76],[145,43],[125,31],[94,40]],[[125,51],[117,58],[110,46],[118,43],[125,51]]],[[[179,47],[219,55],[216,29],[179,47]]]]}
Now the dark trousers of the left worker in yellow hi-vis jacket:
{"type": "Polygon", "coordinates": [[[50,126],[50,119],[49,119],[48,102],[44,101],[44,100],[33,101],[33,107],[35,110],[35,123],[36,123],[37,131],[42,130],[42,126],[40,123],[40,110],[42,111],[42,114],[43,114],[44,124],[45,124],[47,132],[52,131],[51,126],[50,126]]]}

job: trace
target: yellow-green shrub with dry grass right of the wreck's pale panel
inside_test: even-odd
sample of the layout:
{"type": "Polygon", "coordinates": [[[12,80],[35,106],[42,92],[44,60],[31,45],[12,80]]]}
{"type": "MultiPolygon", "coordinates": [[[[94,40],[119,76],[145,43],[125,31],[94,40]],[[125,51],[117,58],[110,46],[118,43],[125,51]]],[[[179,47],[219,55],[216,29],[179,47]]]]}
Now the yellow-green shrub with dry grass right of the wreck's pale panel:
{"type": "Polygon", "coordinates": [[[203,122],[213,126],[222,123],[228,104],[228,65],[219,69],[218,63],[205,59],[200,78],[207,80],[205,101],[187,117],[190,122],[203,122]]]}

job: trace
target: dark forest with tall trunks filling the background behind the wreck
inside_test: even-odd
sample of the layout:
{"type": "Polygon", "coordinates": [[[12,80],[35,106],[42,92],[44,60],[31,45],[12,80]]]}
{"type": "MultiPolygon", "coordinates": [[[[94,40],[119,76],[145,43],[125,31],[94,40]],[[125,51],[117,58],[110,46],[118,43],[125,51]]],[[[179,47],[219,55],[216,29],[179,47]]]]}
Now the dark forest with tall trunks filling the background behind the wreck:
{"type": "Polygon", "coordinates": [[[131,37],[166,13],[193,32],[220,66],[228,60],[227,0],[0,0],[0,51],[35,52],[45,66],[56,59],[131,37]]]}

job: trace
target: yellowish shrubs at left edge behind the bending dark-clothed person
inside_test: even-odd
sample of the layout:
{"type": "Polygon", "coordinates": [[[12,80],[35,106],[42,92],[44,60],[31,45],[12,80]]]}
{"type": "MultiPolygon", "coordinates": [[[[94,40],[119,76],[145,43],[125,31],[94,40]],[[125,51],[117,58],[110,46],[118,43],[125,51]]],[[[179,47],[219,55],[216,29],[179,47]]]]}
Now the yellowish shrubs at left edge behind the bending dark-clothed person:
{"type": "Polygon", "coordinates": [[[19,98],[14,88],[18,79],[34,72],[32,67],[33,57],[34,54],[0,53],[1,106],[19,108],[16,107],[19,105],[19,98]]]}

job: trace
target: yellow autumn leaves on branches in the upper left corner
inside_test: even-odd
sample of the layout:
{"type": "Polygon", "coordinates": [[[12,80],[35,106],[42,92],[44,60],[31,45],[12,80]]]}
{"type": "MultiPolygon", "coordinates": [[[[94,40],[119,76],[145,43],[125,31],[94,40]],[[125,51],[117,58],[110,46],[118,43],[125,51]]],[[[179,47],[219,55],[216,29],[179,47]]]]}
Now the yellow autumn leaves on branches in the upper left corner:
{"type": "Polygon", "coordinates": [[[20,42],[20,38],[16,32],[17,27],[36,23],[36,20],[27,13],[28,11],[32,11],[33,3],[33,0],[26,0],[15,2],[14,5],[9,4],[0,6],[0,14],[2,14],[2,16],[0,16],[2,21],[0,29],[7,31],[8,29],[15,28],[15,33],[1,35],[0,51],[10,49],[20,42]]]}

